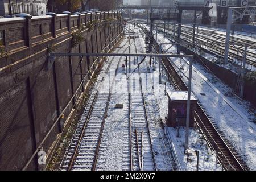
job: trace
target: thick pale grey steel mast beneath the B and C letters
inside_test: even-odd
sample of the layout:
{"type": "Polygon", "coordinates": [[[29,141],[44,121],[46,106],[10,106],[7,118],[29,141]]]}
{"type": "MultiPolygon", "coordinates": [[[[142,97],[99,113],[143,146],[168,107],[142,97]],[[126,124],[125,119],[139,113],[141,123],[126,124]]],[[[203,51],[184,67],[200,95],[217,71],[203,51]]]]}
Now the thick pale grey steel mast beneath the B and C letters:
{"type": "Polygon", "coordinates": [[[224,63],[227,64],[228,63],[228,56],[229,56],[229,38],[230,38],[230,28],[231,28],[231,24],[233,22],[232,20],[232,11],[233,9],[229,7],[228,9],[228,20],[226,23],[226,40],[225,40],[225,55],[224,55],[224,63]]]}

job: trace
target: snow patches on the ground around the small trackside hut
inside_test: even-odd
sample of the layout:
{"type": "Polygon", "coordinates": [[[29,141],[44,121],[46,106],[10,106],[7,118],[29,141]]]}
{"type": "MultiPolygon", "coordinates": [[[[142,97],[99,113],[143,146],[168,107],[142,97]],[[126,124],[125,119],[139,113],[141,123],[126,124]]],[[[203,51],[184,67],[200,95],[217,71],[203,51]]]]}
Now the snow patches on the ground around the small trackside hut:
{"type": "MultiPolygon", "coordinates": [[[[154,71],[155,77],[158,77],[158,69],[154,71]]],[[[168,97],[164,94],[166,82],[166,90],[172,91],[174,90],[173,86],[170,85],[170,82],[166,80],[167,76],[162,77],[162,84],[159,85],[159,105],[160,105],[160,115],[164,120],[165,117],[168,117],[168,97]]],[[[158,80],[157,80],[158,81],[158,80]]],[[[184,155],[184,129],[180,128],[180,137],[177,137],[177,129],[172,127],[166,127],[167,136],[174,143],[174,149],[177,153],[177,158],[179,160],[180,166],[182,170],[196,170],[197,156],[189,157],[192,159],[191,162],[187,161],[187,155],[184,155]]],[[[220,164],[216,164],[216,156],[213,152],[206,146],[205,140],[201,138],[201,134],[197,133],[194,129],[189,129],[189,149],[192,151],[199,150],[200,158],[199,158],[199,170],[221,170],[220,164]]]]}

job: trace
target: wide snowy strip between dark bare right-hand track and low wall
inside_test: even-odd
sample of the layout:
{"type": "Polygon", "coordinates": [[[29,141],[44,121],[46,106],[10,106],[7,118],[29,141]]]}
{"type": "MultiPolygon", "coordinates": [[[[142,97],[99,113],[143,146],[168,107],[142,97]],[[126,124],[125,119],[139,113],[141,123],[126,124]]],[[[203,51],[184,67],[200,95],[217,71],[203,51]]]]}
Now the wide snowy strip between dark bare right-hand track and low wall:
{"type": "MultiPolygon", "coordinates": [[[[166,39],[167,40],[167,39],[166,39]]],[[[158,34],[158,41],[163,42],[163,35],[158,34]]],[[[170,42],[169,40],[167,40],[170,42]]],[[[166,47],[163,47],[165,49],[166,47]]],[[[176,53],[176,47],[168,50],[168,53],[176,53]]],[[[181,74],[188,77],[188,60],[172,59],[181,74]]],[[[187,78],[183,80],[188,84],[187,78]]],[[[192,91],[199,101],[205,106],[214,122],[224,131],[225,136],[237,152],[242,155],[247,166],[250,169],[256,169],[256,127],[253,121],[255,111],[250,111],[249,102],[238,100],[234,97],[228,97],[230,88],[221,81],[205,71],[200,64],[193,65],[192,72],[192,91]],[[205,96],[201,95],[204,93],[205,96]]]]}

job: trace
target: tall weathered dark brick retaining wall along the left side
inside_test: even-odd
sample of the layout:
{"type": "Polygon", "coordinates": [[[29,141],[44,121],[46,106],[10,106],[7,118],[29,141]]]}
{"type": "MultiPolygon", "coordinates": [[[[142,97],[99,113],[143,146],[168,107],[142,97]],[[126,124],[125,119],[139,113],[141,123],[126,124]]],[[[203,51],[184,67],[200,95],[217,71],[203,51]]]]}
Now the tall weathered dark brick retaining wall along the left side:
{"type": "MultiPolygon", "coordinates": [[[[117,24],[112,24],[115,28],[98,24],[92,31],[83,28],[80,31],[85,40],[72,48],[72,34],[79,26],[85,27],[85,19],[85,14],[61,14],[0,21],[0,31],[5,32],[0,56],[0,170],[22,169],[67,107],[63,119],[57,122],[42,145],[50,154],[49,148],[72,113],[73,101],[86,90],[98,65],[92,67],[92,58],[68,56],[56,57],[51,63],[48,53],[52,49],[53,52],[101,52],[121,34],[121,25],[117,24]],[[84,77],[83,89],[68,104],[84,77]]],[[[36,155],[27,169],[42,169],[44,166],[38,166],[37,160],[36,155]]]]}

